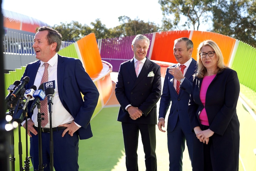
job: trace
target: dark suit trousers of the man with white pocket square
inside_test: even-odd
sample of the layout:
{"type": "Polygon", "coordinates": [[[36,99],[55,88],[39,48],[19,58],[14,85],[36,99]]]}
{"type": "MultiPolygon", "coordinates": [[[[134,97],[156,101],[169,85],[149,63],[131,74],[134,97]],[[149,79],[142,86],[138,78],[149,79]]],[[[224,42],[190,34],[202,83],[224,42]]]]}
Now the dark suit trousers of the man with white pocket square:
{"type": "Polygon", "coordinates": [[[122,122],[127,171],[138,171],[139,131],[145,153],[146,171],[157,171],[156,125],[122,122]]]}

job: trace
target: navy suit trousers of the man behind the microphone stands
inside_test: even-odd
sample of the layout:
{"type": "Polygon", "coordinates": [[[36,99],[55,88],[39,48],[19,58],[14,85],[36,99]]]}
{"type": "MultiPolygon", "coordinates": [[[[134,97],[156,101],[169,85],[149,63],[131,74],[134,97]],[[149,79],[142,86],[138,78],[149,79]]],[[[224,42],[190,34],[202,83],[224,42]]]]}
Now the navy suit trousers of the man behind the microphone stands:
{"type": "MultiPolygon", "coordinates": [[[[53,131],[53,166],[56,171],[78,171],[78,134],[73,137],[63,131],[53,131]]],[[[37,130],[38,131],[38,130],[37,130]]],[[[39,167],[38,134],[31,134],[30,155],[34,169],[39,167]]],[[[42,132],[42,160],[44,171],[50,171],[50,133],[42,132]]]]}

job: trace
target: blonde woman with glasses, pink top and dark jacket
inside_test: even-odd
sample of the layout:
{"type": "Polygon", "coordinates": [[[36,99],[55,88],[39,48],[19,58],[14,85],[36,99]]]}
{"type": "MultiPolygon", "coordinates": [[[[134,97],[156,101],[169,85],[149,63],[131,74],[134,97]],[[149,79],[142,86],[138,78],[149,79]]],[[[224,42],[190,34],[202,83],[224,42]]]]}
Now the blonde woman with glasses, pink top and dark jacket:
{"type": "Polygon", "coordinates": [[[197,48],[197,72],[189,101],[193,171],[238,171],[240,91],[236,71],[226,67],[218,45],[206,40],[197,48]]]}

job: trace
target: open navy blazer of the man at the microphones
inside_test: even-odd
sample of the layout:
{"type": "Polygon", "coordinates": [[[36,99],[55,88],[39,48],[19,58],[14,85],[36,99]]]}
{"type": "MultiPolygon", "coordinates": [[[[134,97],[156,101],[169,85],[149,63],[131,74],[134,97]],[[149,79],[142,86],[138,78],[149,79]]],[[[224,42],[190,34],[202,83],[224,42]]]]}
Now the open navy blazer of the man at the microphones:
{"type": "MultiPolygon", "coordinates": [[[[34,84],[39,66],[40,60],[27,65],[22,77],[30,78],[25,87],[26,90],[34,84]]],[[[57,81],[62,105],[74,117],[75,123],[82,126],[78,129],[79,138],[92,137],[90,120],[97,106],[99,92],[90,76],[85,72],[81,61],[75,58],[61,57],[58,54],[57,81]],[[83,98],[81,93],[84,95],[83,98]]],[[[32,101],[29,103],[28,109],[31,104],[32,101]]],[[[29,118],[32,117],[32,114],[29,113],[29,118]]]]}

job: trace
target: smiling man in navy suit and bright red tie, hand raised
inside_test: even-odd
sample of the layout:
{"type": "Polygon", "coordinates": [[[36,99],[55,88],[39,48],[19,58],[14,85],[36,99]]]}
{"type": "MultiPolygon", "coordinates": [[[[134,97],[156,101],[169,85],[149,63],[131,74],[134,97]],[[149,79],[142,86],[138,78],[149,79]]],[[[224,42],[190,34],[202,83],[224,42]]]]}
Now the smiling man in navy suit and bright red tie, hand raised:
{"type": "Polygon", "coordinates": [[[171,108],[167,124],[167,144],[169,151],[169,170],[182,170],[182,157],[185,149],[185,141],[192,161],[193,133],[190,129],[188,102],[192,89],[193,74],[196,70],[196,61],[192,58],[193,43],[187,37],[174,41],[173,54],[177,64],[167,68],[163,92],[159,107],[158,128],[165,127],[165,116],[171,108]],[[180,69],[182,68],[182,69],[180,69]],[[183,70],[183,73],[182,71],[183,70]]]}

